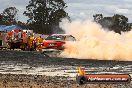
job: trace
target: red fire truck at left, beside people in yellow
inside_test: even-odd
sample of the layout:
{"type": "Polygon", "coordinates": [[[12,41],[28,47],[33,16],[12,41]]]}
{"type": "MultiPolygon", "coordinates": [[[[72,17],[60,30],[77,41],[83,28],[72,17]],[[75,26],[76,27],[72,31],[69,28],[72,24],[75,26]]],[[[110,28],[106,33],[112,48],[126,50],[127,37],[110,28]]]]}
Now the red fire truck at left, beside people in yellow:
{"type": "Polygon", "coordinates": [[[32,33],[21,29],[15,29],[7,32],[7,48],[28,50],[29,36],[32,33]]]}

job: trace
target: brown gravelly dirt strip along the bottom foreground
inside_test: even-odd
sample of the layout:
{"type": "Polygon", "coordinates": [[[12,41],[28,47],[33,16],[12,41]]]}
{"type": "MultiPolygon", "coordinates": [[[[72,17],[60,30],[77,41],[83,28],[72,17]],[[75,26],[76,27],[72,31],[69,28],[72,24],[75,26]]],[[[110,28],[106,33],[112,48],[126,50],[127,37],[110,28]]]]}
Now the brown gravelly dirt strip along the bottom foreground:
{"type": "Polygon", "coordinates": [[[78,85],[66,77],[0,74],[0,88],[131,88],[128,84],[78,85]]]}

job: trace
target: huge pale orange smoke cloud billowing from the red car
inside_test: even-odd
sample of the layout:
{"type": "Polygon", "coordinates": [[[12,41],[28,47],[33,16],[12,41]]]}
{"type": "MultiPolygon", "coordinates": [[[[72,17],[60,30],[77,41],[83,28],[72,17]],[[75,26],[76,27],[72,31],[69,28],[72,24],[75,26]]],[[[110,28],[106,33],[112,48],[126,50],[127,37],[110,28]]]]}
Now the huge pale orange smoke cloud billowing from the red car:
{"type": "Polygon", "coordinates": [[[63,20],[60,27],[77,39],[65,44],[62,57],[132,61],[132,31],[120,35],[89,20],[63,20]]]}

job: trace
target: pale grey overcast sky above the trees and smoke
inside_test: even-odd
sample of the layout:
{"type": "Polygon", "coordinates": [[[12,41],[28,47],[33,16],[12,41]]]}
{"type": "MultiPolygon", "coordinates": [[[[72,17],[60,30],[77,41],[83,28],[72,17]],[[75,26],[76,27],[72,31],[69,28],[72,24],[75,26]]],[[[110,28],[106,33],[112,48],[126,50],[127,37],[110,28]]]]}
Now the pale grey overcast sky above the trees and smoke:
{"type": "MultiPolygon", "coordinates": [[[[122,14],[132,22],[132,0],[64,0],[67,3],[66,11],[72,20],[93,19],[93,14],[102,13],[104,16],[122,14]]],[[[18,19],[25,21],[28,19],[23,16],[23,11],[28,5],[29,0],[0,0],[0,13],[7,7],[15,6],[18,10],[18,19]]]]}

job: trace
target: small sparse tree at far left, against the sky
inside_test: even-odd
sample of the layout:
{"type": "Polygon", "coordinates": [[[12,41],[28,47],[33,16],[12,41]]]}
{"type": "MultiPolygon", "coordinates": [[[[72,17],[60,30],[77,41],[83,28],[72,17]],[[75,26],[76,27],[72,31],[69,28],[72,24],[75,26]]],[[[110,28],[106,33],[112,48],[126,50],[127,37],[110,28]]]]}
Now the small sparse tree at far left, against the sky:
{"type": "Polygon", "coordinates": [[[8,7],[6,8],[3,13],[2,13],[2,20],[4,22],[9,22],[9,23],[16,23],[16,16],[18,13],[18,9],[16,9],[15,7],[8,7]]]}

